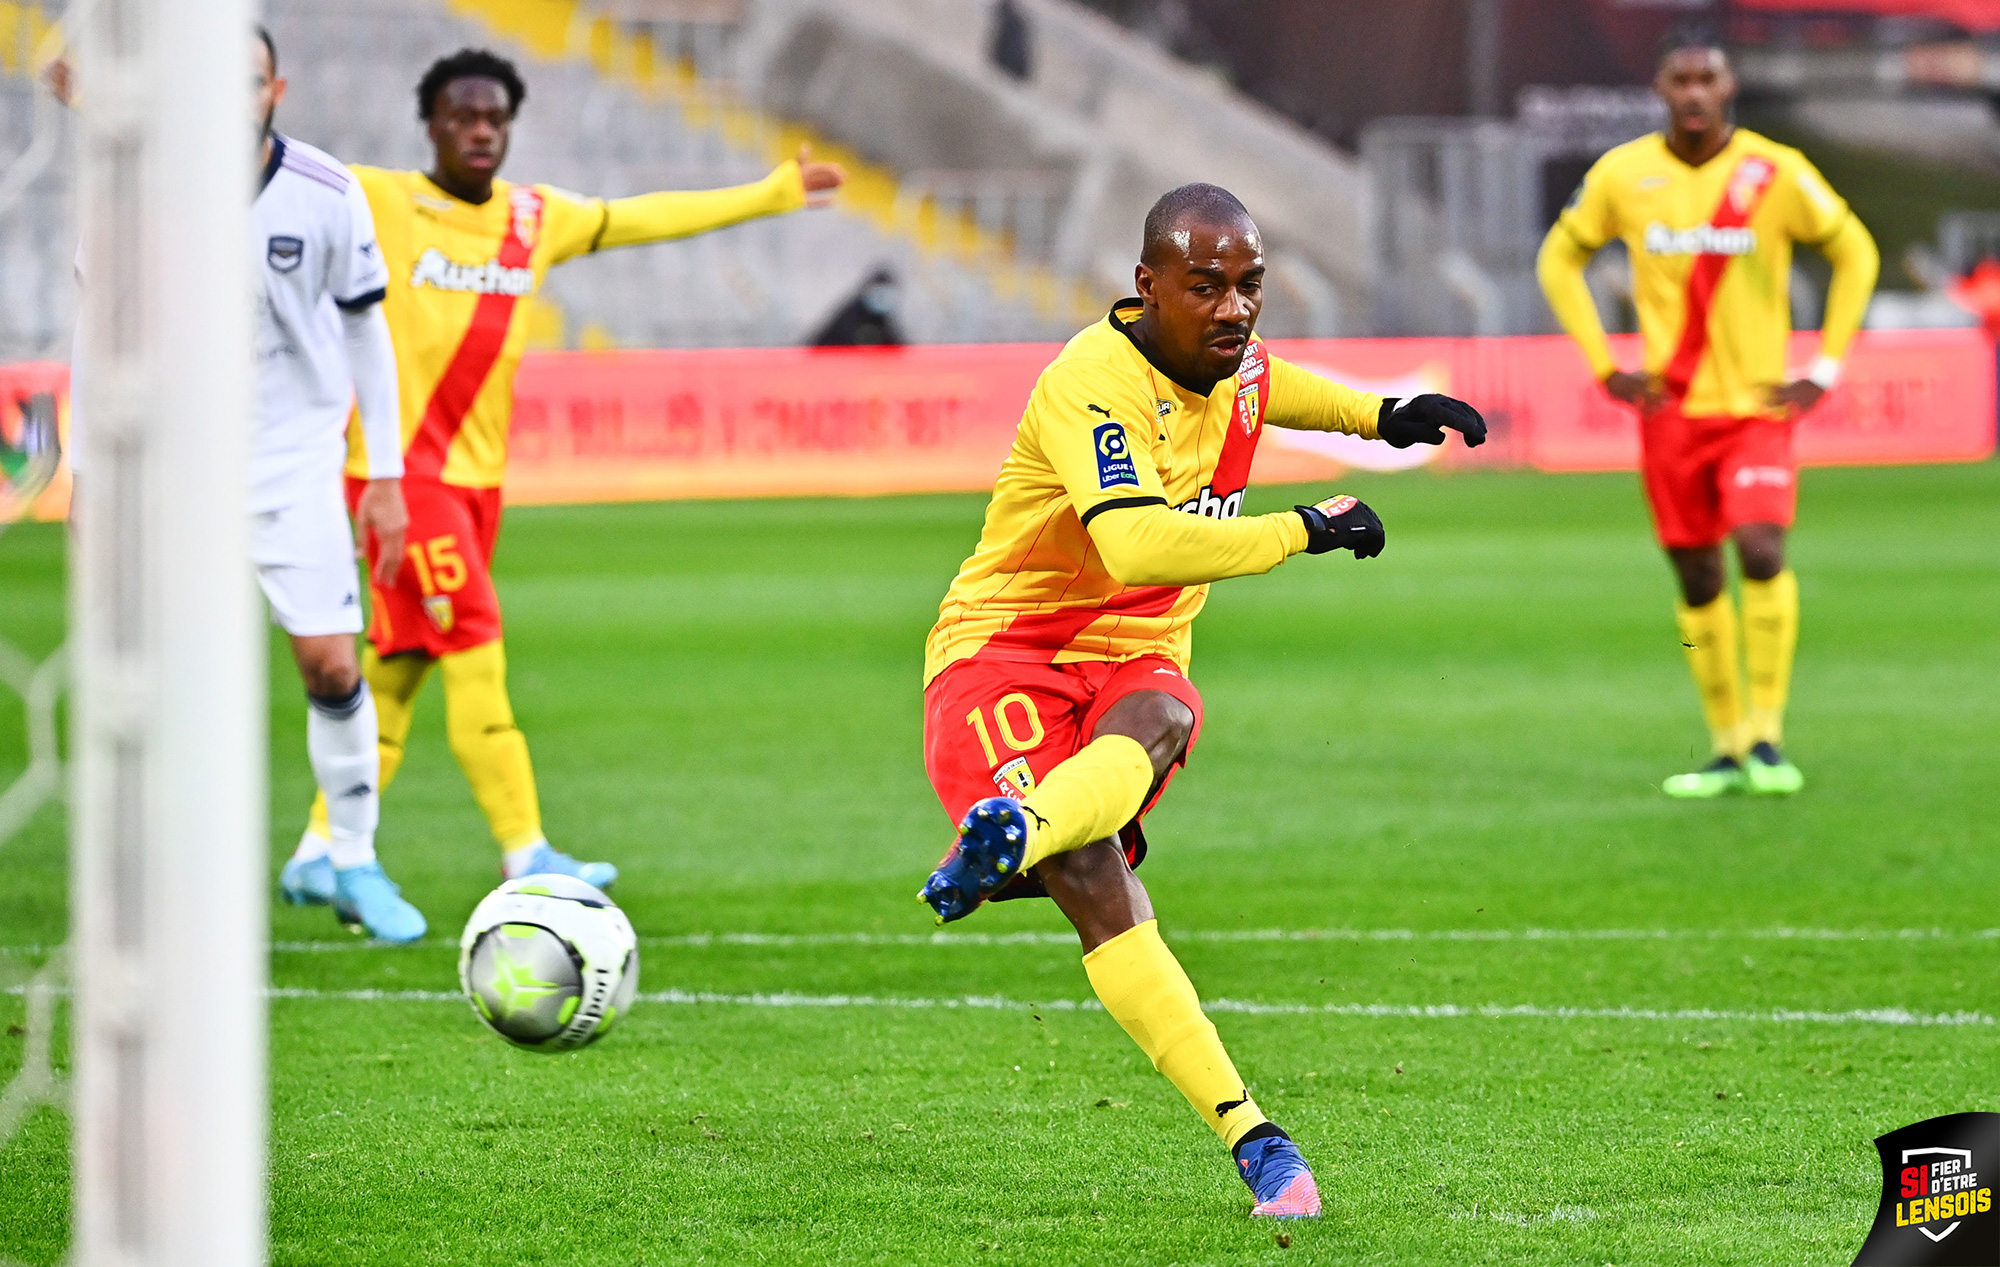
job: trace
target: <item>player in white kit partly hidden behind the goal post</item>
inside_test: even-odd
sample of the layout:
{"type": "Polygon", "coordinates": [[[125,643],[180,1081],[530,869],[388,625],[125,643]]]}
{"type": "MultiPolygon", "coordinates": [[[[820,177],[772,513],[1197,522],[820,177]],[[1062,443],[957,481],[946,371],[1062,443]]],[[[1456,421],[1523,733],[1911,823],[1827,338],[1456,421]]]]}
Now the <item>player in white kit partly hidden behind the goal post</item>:
{"type": "Polygon", "coordinates": [[[402,414],[382,296],[388,270],[360,182],[334,158],[272,130],[284,100],[278,50],[250,46],[262,168],[252,204],[258,278],[256,426],[250,434],[250,558],[306,681],[306,753],[326,793],[330,841],[286,863],[294,903],[332,903],[342,923],[382,941],[416,941],[424,915],[402,899],[374,853],[380,813],[376,711],[360,675],[356,540],[380,542],[394,582],[408,514],[402,414]],[[348,528],[342,506],[346,424],[360,406],[368,488],[348,528]]]}

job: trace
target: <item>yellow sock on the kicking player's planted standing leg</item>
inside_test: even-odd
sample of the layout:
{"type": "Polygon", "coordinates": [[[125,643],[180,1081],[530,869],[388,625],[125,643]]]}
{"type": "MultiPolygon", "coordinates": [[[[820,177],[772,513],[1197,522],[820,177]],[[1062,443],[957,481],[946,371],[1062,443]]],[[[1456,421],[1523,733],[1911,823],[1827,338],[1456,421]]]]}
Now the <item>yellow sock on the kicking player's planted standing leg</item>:
{"type": "Polygon", "coordinates": [[[1236,1075],[1188,973],[1160,941],[1158,921],[1130,927],[1084,955],[1084,973],[1104,1011],[1124,1025],[1222,1143],[1236,1147],[1250,1127],[1270,1121],[1236,1075]]]}

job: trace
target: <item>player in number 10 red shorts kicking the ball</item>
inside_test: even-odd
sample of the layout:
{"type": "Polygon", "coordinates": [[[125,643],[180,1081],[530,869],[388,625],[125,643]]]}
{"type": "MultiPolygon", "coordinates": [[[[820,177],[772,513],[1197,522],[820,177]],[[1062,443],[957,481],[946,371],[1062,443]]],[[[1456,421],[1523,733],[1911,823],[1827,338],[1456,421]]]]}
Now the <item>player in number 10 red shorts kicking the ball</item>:
{"type": "Polygon", "coordinates": [[[1136,300],[1062,350],[1000,468],[980,546],[924,653],[924,765],[958,841],[918,895],[938,921],[1054,897],[1104,1009],[1222,1137],[1252,1213],[1314,1217],[1292,1139],[1250,1099],[1132,867],[1140,815],[1202,733],[1190,624],[1208,584],[1294,554],[1382,552],[1354,498],[1242,520],[1264,426],[1398,448],[1486,424],[1444,396],[1326,382],[1256,340],[1264,254],[1226,190],[1190,184],[1146,216],[1136,300]],[[994,793],[1000,795],[994,795],[994,793]]]}

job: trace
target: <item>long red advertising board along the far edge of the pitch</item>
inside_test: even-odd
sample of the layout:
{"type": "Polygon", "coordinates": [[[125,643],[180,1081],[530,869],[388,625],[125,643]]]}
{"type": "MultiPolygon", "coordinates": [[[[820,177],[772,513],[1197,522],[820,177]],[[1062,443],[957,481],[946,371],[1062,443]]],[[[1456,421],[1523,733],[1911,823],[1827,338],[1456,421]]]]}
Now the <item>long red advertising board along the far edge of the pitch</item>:
{"type": "MultiPolygon", "coordinates": [[[[1816,336],[1794,338],[1810,362],[1816,336]]],[[[1622,364],[1638,340],[1614,340],[1622,364]]],[[[1480,450],[1390,450],[1272,428],[1252,478],[1344,468],[1630,470],[1632,410],[1604,396],[1570,340],[1272,340],[1310,370],[1386,396],[1448,392],[1492,426],[1480,450]]],[[[512,504],[764,498],[992,488],[1054,344],[724,348],[530,354],[514,380],[512,504]]],[[[16,398],[66,386],[60,366],[0,368],[0,438],[16,398]]],[[[68,410],[64,410],[66,418],[68,410]]],[[[1978,330],[1868,332],[1838,390],[1800,424],[1808,466],[1976,462],[1994,452],[1994,346],[1978,330]]],[[[56,518],[58,478],[36,506],[56,518]]]]}

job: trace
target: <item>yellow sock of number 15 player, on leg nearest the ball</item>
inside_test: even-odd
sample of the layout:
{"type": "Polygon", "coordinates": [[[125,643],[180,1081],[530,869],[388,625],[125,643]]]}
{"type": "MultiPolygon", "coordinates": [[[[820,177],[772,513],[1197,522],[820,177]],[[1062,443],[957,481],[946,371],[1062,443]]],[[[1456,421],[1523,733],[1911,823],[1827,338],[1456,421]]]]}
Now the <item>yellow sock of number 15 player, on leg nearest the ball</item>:
{"type": "Polygon", "coordinates": [[[528,739],[514,725],[506,695],[506,649],[488,641],[438,663],[444,665],[444,733],[494,839],[502,849],[540,839],[542,801],[534,791],[528,739]]]}

